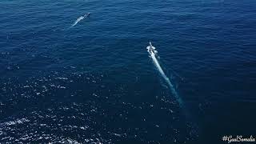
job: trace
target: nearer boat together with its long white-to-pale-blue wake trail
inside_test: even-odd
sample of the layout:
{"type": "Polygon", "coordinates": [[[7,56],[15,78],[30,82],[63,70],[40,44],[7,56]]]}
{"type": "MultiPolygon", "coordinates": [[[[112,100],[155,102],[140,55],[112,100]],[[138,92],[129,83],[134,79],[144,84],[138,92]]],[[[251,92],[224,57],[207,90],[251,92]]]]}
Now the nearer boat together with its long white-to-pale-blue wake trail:
{"type": "Polygon", "coordinates": [[[174,97],[178,101],[178,104],[180,106],[183,106],[182,98],[179,97],[177,91],[174,88],[174,85],[170,82],[170,79],[166,76],[166,74],[164,73],[164,71],[162,70],[162,67],[158,62],[158,59],[156,58],[156,54],[158,53],[158,51],[155,50],[155,47],[151,45],[151,42],[150,42],[150,46],[147,46],[146,49],[149,52],[150,57],[153,59],[154,65],[157,67],[158,71],[162,75],[162,78],[164,78],[166,83],[168,84],[171,93],[174,95],[174,97]]]}

